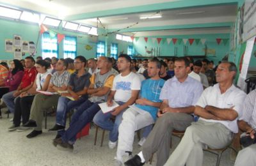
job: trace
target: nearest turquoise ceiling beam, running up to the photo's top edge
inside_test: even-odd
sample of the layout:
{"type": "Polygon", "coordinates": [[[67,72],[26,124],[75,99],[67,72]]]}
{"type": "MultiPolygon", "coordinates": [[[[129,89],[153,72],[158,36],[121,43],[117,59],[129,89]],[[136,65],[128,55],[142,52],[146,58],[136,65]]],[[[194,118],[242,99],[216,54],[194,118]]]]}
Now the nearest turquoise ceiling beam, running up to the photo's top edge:
{"type": "Polygon", "coordinates": [[[180,0],[168,3],[147,4],[141,6],[132,6],[127,8],[117,8],[113,10],[101,10],[77,15],[68,15],[64,20],[83,20],[97,17],[109,17],[114,15],[125,15],[131,13],[145,13],[161,10],[175,10],[179,8],[193,8],[202,6],[218,6],[225,4],[238,4],[239,0],[180,0]]]}

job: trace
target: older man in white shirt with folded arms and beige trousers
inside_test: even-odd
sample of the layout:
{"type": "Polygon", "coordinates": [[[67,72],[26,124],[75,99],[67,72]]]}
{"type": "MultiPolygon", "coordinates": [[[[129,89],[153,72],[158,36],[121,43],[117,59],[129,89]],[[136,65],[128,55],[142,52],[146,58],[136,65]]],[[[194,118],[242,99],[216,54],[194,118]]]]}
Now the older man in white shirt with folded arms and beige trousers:
{"type": "Polygon", "coordinates": [[[208,87],[195,107],[198,122],[189,126],[165,165],[203,164],[205,147],[221,149],[232,142],[238,132],[237,117],[242,114],[246,94],[233,85],[236,64],[222,62],[216,71],[218,84],[208,87]]]}

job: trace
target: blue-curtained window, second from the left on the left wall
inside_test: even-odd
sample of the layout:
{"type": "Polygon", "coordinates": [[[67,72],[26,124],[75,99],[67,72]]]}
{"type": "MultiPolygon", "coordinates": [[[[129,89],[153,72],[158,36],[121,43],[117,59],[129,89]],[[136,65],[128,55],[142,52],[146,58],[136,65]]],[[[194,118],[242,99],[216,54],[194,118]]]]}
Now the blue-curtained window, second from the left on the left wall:
{"type": "Polygon", "coordinates": [[[70,57],[74,59],[76,57],[76,37],[65,36],[63,49],[64,58],[70,57]]]}

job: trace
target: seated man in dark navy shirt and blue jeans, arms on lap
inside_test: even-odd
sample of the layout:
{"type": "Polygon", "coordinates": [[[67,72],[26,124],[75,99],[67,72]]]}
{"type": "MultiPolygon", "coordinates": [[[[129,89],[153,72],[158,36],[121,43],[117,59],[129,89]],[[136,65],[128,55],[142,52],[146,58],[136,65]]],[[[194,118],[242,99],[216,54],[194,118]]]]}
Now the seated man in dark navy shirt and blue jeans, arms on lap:
{"type": "Polygon", "coordinates": [[[58,106],[56,111],[56,124],[51,131],[58,130],[56,137],[60,137],[61,132],[65,129],[67,113],[79,107],[88,99],[88,87],[90,86],[90,73],[84,70],[86,59],[83,56],[77,56],[74,61],[76,72],[70,75],[70,80],[67,92],[61,93],[58,99],[58,106]],[[72,98],[74,100],[72,100],[72,98]]]}

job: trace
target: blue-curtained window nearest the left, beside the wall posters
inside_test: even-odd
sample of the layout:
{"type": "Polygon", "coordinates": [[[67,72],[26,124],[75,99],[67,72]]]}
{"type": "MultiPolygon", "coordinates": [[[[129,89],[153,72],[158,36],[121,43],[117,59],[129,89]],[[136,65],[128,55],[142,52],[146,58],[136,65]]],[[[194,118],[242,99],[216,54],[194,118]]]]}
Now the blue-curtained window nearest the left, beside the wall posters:
{"type": "Polygon", "coordinates": [[[42,56],[45,57],[58,57],[58,43],[57,35],[51,37],[49,33],[42,35],[42,56]]]}

